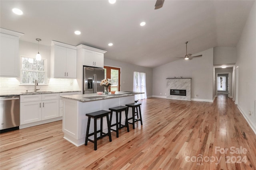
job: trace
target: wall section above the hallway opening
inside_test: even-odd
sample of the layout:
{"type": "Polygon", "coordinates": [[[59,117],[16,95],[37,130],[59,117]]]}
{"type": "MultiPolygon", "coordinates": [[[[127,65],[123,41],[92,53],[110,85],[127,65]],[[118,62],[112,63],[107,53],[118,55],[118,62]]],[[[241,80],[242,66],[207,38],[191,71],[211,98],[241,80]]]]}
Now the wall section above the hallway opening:
{"type": "Polygon", "coordinates": [[[214,47],[213,64],[236,63],[236,47],[214,47]]]}

